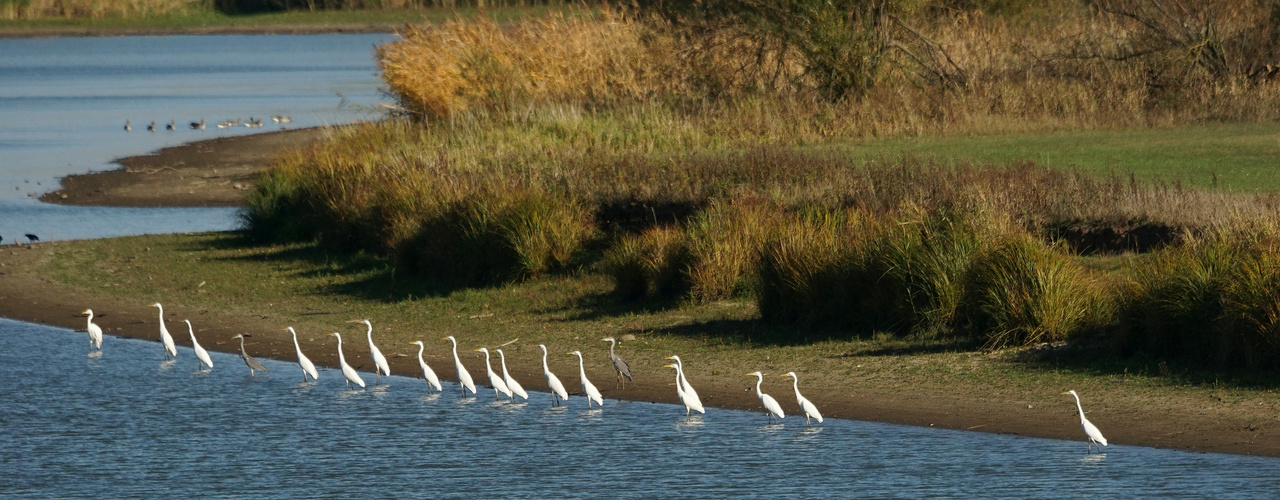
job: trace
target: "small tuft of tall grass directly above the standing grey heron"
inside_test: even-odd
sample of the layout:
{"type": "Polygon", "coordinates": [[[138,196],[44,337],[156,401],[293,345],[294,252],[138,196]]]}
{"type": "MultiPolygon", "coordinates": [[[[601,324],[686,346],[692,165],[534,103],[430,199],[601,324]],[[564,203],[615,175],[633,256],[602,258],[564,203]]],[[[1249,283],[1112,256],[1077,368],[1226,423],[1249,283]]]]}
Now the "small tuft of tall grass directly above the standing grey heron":
{"type": "Polygon", "coordinates": [[[676,298],[687,290],[689,243],[676,226],[653,226],[620,238],[602,257],[614,293],[627,299],[676,298]]]}

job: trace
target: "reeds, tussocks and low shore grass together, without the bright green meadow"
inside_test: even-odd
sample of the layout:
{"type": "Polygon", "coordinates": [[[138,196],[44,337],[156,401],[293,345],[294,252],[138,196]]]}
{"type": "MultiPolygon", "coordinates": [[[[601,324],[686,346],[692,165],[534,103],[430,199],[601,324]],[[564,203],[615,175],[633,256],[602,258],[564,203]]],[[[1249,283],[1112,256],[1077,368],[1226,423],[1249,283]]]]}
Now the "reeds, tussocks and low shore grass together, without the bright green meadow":
{"type": "MultiPolygon", "coordinates": [[[[754,409],[731,373],[767,366],[838,417],[1080,439],[1057,398],[1075,389],[1115,442],[1280,455],[1274,191],[851,153],[1274,127],[1276,8],[997,4],[1021,5],[640,1],[408,27],[378,52],[399,114],[285,153],[243,233],[4,258],[55,295],[180,297],[260,330],[628,334],[634,367],[695,353],[713,405],[754,409]],[[813,23],[835,24],[792,29],[813,23]]],[[[623,395],[672,402],[650,376],[623,395]]]]}

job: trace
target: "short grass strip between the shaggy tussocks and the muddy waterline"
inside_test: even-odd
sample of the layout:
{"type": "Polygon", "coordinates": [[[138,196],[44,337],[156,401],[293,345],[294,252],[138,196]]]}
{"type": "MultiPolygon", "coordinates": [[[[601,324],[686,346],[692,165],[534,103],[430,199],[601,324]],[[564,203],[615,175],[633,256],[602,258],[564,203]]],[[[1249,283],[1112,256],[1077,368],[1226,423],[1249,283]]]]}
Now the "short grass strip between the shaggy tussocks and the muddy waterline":
{"type": "MultiPolygon", "coordinates": [[[[593,376],[604,377],[609,373],[607,345],[599,339],[632,334],[636,341],[623,343],[620,353],[641,377],[640,384],[666,384],[663,358],[676,353],[686,359],[690,379],[708,393],[724,390],[713,387],[748,387],[750,380],[740,376],[748,371],[776,375],[794,370],[801,373],[806,395],[819,405],[823,393],[893,394],[910,387],[911,394],[1068,408],[1056,395],[1070,387],[1088,391],[1098,405],[1123,405],[1138,398],[1153,400],[1158,408],[1194,407],[1203,405],[1202,393],[1211,390],[1249,402],[1222,412],[1274,414],[1280,409],[1275,398],[1263,398],[1262,405],[1253,402],[1257,394],[1248,386],[1267,381],[1187,372],[1143,359],[1079,361],[1023,355],[1018,349],[991,354],[970,350],[973,345],[963,341],[896,335],[776,344],[773,339],[788,335],[777,335],[759,321],[751,301],[641,309],[611,295],[611,281],[600,275],[442,292],[397,277],[384,258],[342,256],[312,244],[248,247],[233,234],[84,240],[50,249],[50,263],[36,272],[136,302],[138,308],[159,299],[174,311],[207,312],[204,321],[260,318],[253,321],[261,324],[262,332],[293,325],[311,336],[347,331],[342,321],[367,317],[387,347],[426,340],[429,359],[447,355],[447,344],[433,344],[443,335],[456,335],[467,347],[518,338],[504,348],[513,366],[532,372],[536,345],[544,343],[553,352],[582,349],[588,363],[595,363],[593,376]],[[1230,387],[1231,382],[1238,386],[1230,387]]],[[[408,348],[384,349],[411,354],[408,348]]],[[[567,358],[552,357],[550,362],[553,370],[572,368],[567,358]]],[[[774,395],[786,394],[781,379],[769,377],[765,386],[774,395]]]]}

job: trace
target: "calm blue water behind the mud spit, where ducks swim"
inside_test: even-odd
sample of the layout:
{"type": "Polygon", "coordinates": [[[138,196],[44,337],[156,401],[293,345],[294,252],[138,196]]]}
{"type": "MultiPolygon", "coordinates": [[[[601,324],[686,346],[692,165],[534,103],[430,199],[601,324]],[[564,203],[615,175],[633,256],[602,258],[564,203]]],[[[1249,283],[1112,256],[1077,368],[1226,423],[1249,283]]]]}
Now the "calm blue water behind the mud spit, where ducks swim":
{"type": "Polygon", "coordinates": [[[376,119],[374,45],[390,35],[128,36],[0,40],[0,237],[58,239],[230,229],[233,208],[49,208],[68,174],[163,147],[288,127],[376,119]],[[264,118],[262,128],[218,129],[264,118]],[[204,118],[205,130],[189,121],[204,118]],[[131,120],[133,132],[124,132],[131,120]],[[155,120],[160,130],[146,130],[155,120]],[[164,130],[175,120],[178,129],[164,130]],[[129,220],[128,224],[118,224],[129,220]],[[145,221],[145,223],[143,223],[145,221]],[[127,226],[127,228],[125,228],[127,226]]]}

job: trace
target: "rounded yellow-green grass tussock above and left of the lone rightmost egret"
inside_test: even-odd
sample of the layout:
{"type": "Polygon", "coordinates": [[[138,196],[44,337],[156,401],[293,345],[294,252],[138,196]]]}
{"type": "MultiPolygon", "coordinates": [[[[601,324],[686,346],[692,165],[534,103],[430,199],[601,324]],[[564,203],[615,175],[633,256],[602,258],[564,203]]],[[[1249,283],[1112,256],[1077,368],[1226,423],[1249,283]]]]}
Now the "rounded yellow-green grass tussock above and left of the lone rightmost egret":
{"type": "Polygon", "coordinates": [[[1014,235],[970,265],[966,312],[991,348],[1066,340],[1100,322],[1101,289],[1057,248],[1014,235]]]}

